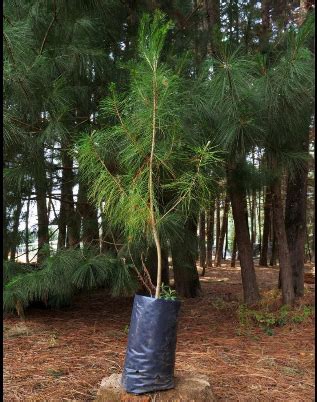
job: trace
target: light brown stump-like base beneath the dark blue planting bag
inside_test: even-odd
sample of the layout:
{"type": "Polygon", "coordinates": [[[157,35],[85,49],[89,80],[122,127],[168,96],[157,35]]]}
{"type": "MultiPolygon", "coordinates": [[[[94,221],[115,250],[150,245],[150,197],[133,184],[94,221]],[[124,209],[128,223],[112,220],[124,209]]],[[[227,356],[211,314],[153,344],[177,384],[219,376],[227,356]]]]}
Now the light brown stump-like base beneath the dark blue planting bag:
{"type": "Polygon", "coordinates": [[[209,378],[202,374],[177,372],[175,388],[142,395],[128,394],[121,387],[121,374],[101,381],[95,402],[213,402],[209,378]]]}

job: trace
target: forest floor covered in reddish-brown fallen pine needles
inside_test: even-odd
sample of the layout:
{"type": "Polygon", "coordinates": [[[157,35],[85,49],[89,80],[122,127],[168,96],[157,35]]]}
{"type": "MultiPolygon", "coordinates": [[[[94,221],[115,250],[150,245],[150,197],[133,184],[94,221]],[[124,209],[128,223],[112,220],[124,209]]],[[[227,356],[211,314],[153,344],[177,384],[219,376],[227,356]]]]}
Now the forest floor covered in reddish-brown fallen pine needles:
{"type": "MultiPolygon", "coordinates": [[[[307,266],[307,271],[312,270],[307,266]]],[[[264,304],[279,304],[278,270],[256,267],[264,304]]],[[[314,315],[274,328],[239,320],[240,269],[201,278],[202,297],[182,303],[176,371],[206,374],[219,401],[313,401],[314,315]]],[[[301,306],[314,306],[305,285],[301,306]]],[[[4,319],[4,401],[91,401],[103,377],[120,373],[132,298],[81,296],[61,311],[32,308],[4,319]]]]}

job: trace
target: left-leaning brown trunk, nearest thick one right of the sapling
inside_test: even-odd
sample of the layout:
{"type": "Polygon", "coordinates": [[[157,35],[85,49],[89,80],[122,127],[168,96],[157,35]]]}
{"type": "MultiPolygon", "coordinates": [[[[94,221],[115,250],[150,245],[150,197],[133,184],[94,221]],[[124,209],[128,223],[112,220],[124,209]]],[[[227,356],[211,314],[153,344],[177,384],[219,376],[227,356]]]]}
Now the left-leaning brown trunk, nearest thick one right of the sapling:
{"type": "Polygon", "coordinates": [[[242,190],[235,185],[235,180],[231,178],[230,174],[228,175],[228,185],[234,226],[236,228],[235,233],[240,258],[244,302],[246,304],[253,304],[260,300],[260,293],[253,265],[247,218],[246,194],[245,190],[242,190]]]}

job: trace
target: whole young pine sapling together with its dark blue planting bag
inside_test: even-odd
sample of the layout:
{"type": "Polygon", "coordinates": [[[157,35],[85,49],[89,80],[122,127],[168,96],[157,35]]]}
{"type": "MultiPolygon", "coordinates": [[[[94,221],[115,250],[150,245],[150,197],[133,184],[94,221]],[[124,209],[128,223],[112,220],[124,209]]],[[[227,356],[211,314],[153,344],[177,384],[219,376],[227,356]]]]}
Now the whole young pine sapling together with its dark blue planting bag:
{"type": "Polygon", "coordinates": [[[101,104],[107,127],[83,135],[76,148],[89,197],[107,222],[131,247],[141,239],[144,248],[154,244],[156,249],[155,294],[134,297],[122,374],[122,386],[135,394],[174,387],[180,301],[162,286],[162,242],[186,219],[193,202],[210,197],[210,172],[219,162],[209,142],[202,144],[186,131],[190,91],[160,61],[171,28],[159,11],[153,19],[143,16],[129,89],[121,95],[110,86],[101,104]]]}

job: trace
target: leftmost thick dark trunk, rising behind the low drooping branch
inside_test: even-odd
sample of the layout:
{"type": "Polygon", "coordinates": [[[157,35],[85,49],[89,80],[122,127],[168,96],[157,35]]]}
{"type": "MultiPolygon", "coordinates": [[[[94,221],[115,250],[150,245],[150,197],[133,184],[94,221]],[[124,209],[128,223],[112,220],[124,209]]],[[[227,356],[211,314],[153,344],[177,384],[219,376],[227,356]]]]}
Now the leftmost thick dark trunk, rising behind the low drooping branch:
{"type": "Polygon", "coordinates": [[[38,157],[40,158],[41,169],[39,169],[39,175],[34,179],[36,203],[37,203],[37,220],[38,220],[38,255],[37,262],[40,264],[47,254],[43,251],[45,245],[49,244],[49,232],[48,232],[48,215],[46,205],[46,191],[47,180],[45,173],[45,157],[44,146],[41,146],[38,157]]]}

